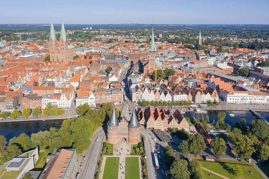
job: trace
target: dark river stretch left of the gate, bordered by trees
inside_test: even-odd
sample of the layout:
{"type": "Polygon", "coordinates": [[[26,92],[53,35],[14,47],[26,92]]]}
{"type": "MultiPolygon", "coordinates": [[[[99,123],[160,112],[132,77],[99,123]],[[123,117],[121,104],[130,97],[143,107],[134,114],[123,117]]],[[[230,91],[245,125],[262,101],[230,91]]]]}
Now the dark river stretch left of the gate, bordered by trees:
{"type": "Polygon", "coordinates": [[[5,136],[6,140],[18,137],[21,133],[25,133],[31,137],[32,133],[49,130],[50,127],[60,128],[63,119],[46,120],[46,121],[21,121],[21,122],[1,122],[0,135],[5,136]]]}

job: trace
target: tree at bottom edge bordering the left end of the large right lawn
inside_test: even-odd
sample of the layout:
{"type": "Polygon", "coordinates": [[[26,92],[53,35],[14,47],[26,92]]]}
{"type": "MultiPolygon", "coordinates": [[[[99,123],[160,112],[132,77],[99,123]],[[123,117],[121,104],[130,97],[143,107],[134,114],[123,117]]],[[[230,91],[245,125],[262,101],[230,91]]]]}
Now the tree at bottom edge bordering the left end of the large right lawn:
{"type": "Polygon", "coordinates": [[[197,159],[192,159],[188,164],[188,169],[190,171],[190,178],[192,179],[205,179],[202,165],[197,159]]]}

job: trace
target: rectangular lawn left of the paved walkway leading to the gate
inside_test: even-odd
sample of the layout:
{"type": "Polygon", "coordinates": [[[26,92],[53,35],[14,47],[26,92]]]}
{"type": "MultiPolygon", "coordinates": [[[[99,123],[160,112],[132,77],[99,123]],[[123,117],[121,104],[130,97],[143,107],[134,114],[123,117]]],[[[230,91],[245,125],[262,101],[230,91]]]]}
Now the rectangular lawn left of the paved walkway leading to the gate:
{"type": "Polygon", "coordinates": [[[119,157],[107,157],[103,172],[103,179],[118,179],[119,157]],[[117,158],[117,160],[115,158],[117,158]]]}

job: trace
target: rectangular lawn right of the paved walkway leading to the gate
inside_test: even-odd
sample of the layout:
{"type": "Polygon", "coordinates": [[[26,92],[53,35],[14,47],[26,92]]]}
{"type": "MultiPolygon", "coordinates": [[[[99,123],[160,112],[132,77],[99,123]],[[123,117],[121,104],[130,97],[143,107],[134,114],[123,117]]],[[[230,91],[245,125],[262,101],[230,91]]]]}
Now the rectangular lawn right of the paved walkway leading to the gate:
{"type": "Polygon", "coordinates": [[[139,179],[139,160],[138,157],[126,157],[125,167],[127,172],[125,172],[125,179],[139,179]]]}

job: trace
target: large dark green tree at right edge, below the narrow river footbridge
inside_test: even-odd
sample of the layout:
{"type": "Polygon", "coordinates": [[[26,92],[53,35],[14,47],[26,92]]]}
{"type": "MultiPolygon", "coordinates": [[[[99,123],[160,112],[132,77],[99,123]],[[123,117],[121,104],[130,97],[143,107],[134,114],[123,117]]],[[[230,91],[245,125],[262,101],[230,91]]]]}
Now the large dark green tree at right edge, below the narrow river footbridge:
{"type": "Polygon", "coordinates": [[[269,126],[261,119],[252,120],[249,125],[251,134],[258,139],[265,139],[269,134],[269,126]]]}

